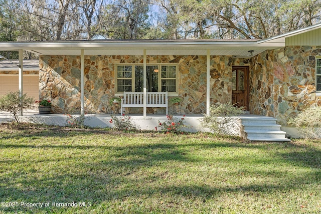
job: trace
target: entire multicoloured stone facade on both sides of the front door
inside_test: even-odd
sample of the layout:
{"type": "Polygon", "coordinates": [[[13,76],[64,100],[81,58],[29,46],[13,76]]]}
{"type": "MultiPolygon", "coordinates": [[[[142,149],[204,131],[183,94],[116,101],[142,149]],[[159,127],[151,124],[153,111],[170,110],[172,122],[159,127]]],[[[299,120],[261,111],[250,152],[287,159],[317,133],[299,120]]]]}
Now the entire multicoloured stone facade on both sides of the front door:
{"type": "MultiPolygon", "coordinates": [[[[232,66],[249,67],[250,113],[275,117],[285,125],[307,107],[321,106],[315,93],[315,56],[321,47],[292,46],[265,51],[251,59],[232,56],[210,58],[210,102],[231,102],[232,66]]],[[[178,64],[179,106],[170,113],[206,112],[206,56],[147,56],[148,64],[178,64]]],[[[109,99],[115,94],[115,65],[142,64],[142,56],[85,56],[85,112],[111,113],[109,99]]],[[[56,113],[80,109],[80,56],[40,57],[41,99],[53,102],[56,113]]],[[[171,97],[169,97],[171,98],[171,97]]],[[[126,112],[142,113],[142,108],[126,112]]],[[[165,109],[147,108],[147,113],[165,109]]]]}

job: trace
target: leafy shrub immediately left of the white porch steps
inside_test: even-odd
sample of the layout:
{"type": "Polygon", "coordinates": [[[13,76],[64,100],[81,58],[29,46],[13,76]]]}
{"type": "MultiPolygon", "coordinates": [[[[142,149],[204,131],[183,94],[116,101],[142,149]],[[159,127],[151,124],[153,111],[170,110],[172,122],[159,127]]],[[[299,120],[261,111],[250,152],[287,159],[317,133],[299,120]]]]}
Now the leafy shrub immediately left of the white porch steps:
{"type": "Polygon", "coordinates": [[[238,108],[231,103],[210,106],[210,116],[205,116],[202,120],[202,126],[209,128],[217,135],[230,134],[230,123],[233,116],[244,114],[244,108],[238,108]]]}

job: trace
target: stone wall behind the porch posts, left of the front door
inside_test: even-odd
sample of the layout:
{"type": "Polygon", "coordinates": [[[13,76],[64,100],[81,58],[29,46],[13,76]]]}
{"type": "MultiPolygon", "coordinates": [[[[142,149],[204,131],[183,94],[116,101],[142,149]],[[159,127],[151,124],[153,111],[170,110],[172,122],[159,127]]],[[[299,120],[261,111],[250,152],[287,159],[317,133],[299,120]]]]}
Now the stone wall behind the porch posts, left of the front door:
{"type": "MultiPolygon", "coordinates": [[[[147,56],[148,64],[179,65],[178,107],[170,113],[206,113],[206,56],[147,56]]],[[[115,64],[143,63],[142,56],[85,56],[85,112],[111,113],[109,99],[115,91],[115,64]]],[[[40,57],[40,98],[50,99],[55,113],[80,109],[80,56],[40,57]]],[[[211,56],[211,103],[231,102],[232,58],[211,56]]],[[[170,97],[171,98],[171,97],[170,97]]],[[[128,112],[128,110],[127,110],[128,112]]],[[[142,109],[130,109],[142,113],[142,109]]],[[[148,108],[147,113],[165,113],[161,108],[148,108]]]]}

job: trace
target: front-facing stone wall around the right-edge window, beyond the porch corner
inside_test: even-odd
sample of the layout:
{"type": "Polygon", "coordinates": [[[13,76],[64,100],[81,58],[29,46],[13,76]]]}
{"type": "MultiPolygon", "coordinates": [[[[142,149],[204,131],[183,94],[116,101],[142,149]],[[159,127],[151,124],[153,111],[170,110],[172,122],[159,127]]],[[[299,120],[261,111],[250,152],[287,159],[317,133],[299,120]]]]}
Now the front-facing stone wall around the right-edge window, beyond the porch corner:
{"type": "Polygon", "coordinates": [[[315,56],[321,47],[289,46],[274,51],[275,117],[286,124],[303,109],[321,106],[315,93],[315,56]]]}

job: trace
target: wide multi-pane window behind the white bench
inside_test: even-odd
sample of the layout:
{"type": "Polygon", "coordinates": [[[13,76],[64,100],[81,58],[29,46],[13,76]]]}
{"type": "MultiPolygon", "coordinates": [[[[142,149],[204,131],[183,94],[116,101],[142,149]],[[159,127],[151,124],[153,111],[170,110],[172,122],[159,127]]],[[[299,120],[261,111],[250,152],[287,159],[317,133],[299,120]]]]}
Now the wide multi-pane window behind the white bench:
{"type": "MultiPolygon", "coordinates": [[[[147,92],[169,92],[177,94],[177,65],[147,65],[147,92]]],[[[116,93],[143,91],[143,65],[116,66],[116,93]]]]}

